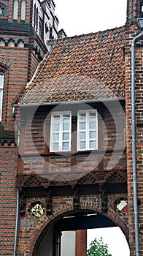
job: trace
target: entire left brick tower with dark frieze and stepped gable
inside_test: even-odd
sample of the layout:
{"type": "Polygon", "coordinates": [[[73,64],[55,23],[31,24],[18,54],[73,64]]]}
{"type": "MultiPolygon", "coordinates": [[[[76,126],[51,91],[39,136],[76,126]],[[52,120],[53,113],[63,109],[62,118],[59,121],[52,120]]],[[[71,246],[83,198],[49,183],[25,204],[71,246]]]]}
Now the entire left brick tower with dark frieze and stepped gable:
{"type": "Polygon", "coordinates": [[[18,151],[12,103],[47,52],[47,39],[58,38],[55,3],[0,1],[0,255],[13,255],[18,151]]]}

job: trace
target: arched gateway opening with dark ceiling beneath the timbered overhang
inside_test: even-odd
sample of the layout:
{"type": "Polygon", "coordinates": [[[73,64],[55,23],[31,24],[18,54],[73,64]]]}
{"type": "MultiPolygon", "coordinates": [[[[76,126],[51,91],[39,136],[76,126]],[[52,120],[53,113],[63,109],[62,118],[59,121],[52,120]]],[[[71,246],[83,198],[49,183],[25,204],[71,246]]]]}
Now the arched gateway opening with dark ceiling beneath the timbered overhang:
{"type": "MultiPolygon", "coordinates": [[[[61,219],[53,225],[47,225],[44,236],[36,243],[36,256],[86,256],[88,248],[87,234],[92,234],[94,231],[96,238],[96,230],[103,230],[101,237],[104,236],[105,229],[110,228],[109,236],[112,234],[112,228],[117,229],[126,241],[126,238],[117,226],[108,217],[103,214],[98,214],[95,211],[78,211],[66,213],[61,219]]],[[[112,238],[111,238],[112,239],[112,238]]],[[[118,241],[118,244],[120,241],[118,241]]],[[[128,243],[126,241],[126,246],[128,243]]],[[[120,253],[121,246],[118,246],[120,253]]],[[[129,253],[129,249],[128,253],[129,253]]],[[[122,253],[120,253],[122,255],[122,253]]],[[[129,254],[128,254],[129,255],[129,254]]],[[[112,255],[115,256],[115,255],[112,255]]]]}

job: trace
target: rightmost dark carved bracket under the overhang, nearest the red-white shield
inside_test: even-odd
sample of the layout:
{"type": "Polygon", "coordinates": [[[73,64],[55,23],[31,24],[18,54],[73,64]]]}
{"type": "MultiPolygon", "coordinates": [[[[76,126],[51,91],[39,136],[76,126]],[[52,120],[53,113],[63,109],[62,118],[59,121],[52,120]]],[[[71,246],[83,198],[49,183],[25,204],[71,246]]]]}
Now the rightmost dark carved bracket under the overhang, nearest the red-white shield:
{"type": "Polygon", "coordinates": [[[107,189],[105,184],[99,184],[99,192],[101,193],[101,212],[107,213],[108,211],[108,198],[107,189]]]}

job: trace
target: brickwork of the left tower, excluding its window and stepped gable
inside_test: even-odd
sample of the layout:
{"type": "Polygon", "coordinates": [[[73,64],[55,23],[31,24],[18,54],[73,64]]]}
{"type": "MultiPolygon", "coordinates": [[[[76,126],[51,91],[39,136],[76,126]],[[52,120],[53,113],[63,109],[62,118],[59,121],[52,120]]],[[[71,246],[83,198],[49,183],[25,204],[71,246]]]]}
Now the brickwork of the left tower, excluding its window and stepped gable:
{"type": "MultiPolygon", "coordinates": [[[[18,94],[34,75],[47,49],[43,40],[32,29],[34,15],[31,6],[34,1],[26,1],[25,22],[20,20],[21,1],[18,1],[17,21],[13,21],[13,0],[2,2],[7,5],[7,13],[0,17],[0,38],[4,44],[0,46],[0,72],[4,72],[3,112],[0,124],[0,255],[10,256],[14,252],[17,203],[15,176],[18,171],[18,151],[12,133],[15,130],[12,103],[15,103],[18,94]],[[12,47],[9,47],[10,39],[14,43],[12,47]],[[23,42],[23,47],[18,45],[19,42],[23,42]]],[[[36,1],[36,4],[40,15],[43,15],[39,1],[36,1]]]]}

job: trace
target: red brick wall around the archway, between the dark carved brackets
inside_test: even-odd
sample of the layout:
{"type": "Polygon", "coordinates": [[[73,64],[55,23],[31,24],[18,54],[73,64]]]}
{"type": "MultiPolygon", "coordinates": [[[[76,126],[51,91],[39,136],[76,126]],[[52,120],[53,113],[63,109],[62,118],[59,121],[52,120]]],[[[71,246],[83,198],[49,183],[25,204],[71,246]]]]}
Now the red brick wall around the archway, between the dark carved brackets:
{"type": "MultiPolygon", "coordinates": [[[[126,197],[126,195],[115,194],[108,196],[109,211],[105,216],[112,219],[123,230],[123,233],[128,239],[128,216],[121,217],[114,209],[114,202],[119,197],[126,197]]],[[[18,256],[20,254],[36,256],[36,249],[39,246],[40,237],[45,235],[45,228],[48,225],[53,225],[58,219],[65,217],[67,214],[73,214],[75,212],[71,196],[56,196],[53,197],[53,214],[49,217],[45,214],[41,219],[35,219],[27,211],[30,203],[34,202],[34,200],[40,200],[42,203],[45,203],[44,197],[27,199],[26,217],[20,218],[18,256]]],[[[80,196],[80,208],[77,211],[80,212],[82,210],[96,211],[101,214],[100,195],[80,196]]]]}

